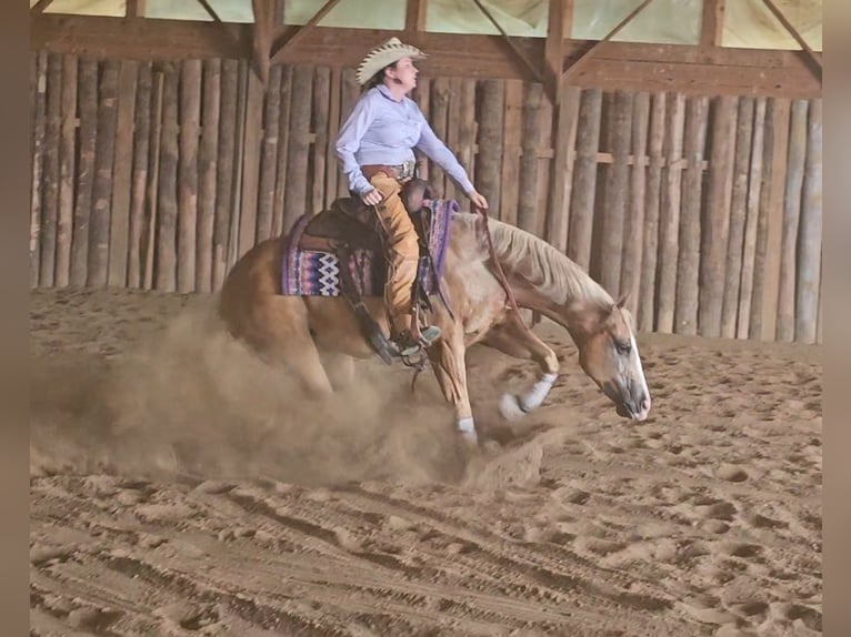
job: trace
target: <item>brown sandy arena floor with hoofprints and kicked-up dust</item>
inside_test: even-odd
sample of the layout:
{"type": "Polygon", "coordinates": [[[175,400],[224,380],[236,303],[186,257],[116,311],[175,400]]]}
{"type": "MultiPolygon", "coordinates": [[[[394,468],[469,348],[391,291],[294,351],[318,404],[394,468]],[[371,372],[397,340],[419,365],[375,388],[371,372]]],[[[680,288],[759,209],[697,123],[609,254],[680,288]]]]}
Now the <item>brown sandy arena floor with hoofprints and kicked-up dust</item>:
{"type": "Polygon", "coordinates": [[[468,457],[430,374],[328,404],[211,300],[31,295],[31,635],[821,634],[821,347],[642,335],[618,417],[567,333],[470,352],[468,457]]]}

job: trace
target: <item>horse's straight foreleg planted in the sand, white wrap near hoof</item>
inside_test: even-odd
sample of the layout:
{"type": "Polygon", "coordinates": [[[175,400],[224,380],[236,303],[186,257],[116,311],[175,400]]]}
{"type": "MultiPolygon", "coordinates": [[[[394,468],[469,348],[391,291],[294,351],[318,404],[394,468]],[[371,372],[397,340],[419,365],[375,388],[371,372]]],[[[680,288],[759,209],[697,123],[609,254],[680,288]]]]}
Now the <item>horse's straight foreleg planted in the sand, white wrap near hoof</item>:
{"type": "Polygon", "coordinates": [[[429,348],[431,367],[438,385],[445,400],[454,406],[455,427],[465,441],[475,444],[479,436],[475,433],[470,394],[467,391],[465,353],[463,331],[457,326],[443,328],[441,340],[429,348]]]}

